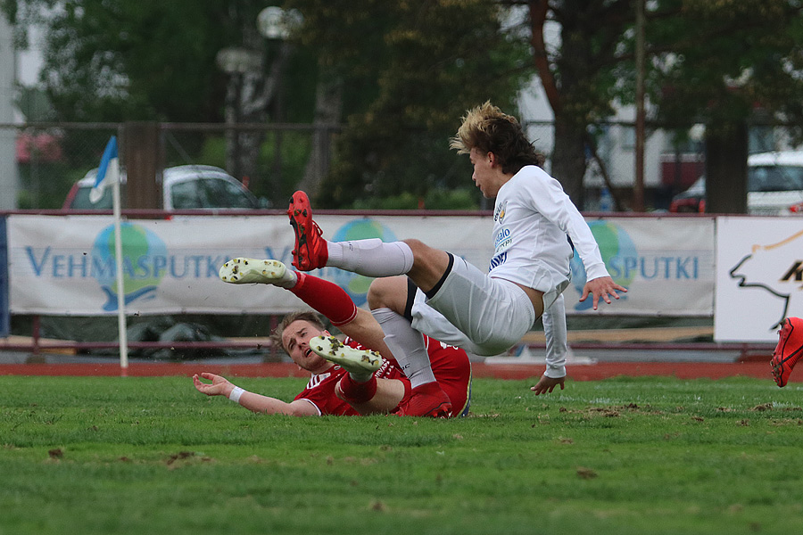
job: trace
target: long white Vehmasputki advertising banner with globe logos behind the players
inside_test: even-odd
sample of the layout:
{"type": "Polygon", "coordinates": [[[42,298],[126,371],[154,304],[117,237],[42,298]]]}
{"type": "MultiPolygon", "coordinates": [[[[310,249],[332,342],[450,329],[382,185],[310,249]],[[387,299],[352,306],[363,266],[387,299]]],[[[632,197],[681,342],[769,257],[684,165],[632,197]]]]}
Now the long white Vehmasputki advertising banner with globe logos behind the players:
{"type": "MultiPolygon", "coordinates": [[[[486,270],[493,255],[490,217],[316,217],[327,239],[418,238],[486,270]]],[[[584,270],[575,259],[568,314],[710,316],[714,293],[714,223],[708,218],[591,220],[608,271],[630,290],[611,306],[579,303],[584,270]]],[[[290,266],[293,230],[284,216],[129,220],[122,226],[128,314],[284,314],[307,309],[290,292],[219,280],[238,256],[290,266]]],[[[105,315],[117,311],[112,218],[8,218],[14,314],[105,315]]],[[[339,284],[364,305],[370,280],[340,269],[313,275],[339,284]]]]}

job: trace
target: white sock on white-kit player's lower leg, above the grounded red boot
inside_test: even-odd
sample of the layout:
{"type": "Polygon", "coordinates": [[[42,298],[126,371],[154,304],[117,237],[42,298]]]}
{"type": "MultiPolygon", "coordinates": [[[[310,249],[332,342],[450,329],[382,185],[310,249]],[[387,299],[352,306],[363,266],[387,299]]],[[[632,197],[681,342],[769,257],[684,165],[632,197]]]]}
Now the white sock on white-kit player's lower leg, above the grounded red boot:
{"type": "Polygon", "coordinates": [[[433,383],[435,374],[429,364],[429,354],[424,345],[424,335],[410,325],[407,318],[391,309],[371,310],[385,333],[387,348],[402,367],[402,372],[410,379],[413,388],[425,383],[433,383]]]}

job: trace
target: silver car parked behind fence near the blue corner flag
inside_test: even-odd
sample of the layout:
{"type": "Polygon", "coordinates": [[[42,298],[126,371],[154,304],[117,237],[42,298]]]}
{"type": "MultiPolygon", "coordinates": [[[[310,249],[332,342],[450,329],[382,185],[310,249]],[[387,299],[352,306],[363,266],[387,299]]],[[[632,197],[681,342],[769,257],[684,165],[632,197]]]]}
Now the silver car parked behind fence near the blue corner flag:
{"type": "MultiPolygon", "coordinates": [[[[91,169],[67,193],[62,210],[112,210],[112,190],[107,188],[100,201],[89,202],[97,169],[91,169]]],[[[181,165],[162,172],[164,210],[256,210],[267,202],[257,199],[235,177],[209,165],[181,165]]],[[[125,198],[126,174],[120,171],[121,196],[125,198]]],[[[125,202],[123,202],[125,206],[125,202]]]]}

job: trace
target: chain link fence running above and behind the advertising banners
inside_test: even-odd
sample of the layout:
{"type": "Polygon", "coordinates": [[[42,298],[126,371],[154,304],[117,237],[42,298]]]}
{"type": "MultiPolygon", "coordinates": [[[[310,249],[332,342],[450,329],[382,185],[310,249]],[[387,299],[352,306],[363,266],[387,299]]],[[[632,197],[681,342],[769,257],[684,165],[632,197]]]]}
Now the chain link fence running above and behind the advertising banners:
{"type": "MultiPolygon", "coordinates": [[[[97,167],[112,135],[120,138],[120,163],[125,167],[127,125],[0,125],[0,143],[14,145],[12,161],[7,161],[7,156],[0,159],[0,191],[4,193],[0,209],[61,208],[70,187],[97,167]]],[[[552,123],[530,121],[524,126],[535,148],[547,157],[545,168],[550,170],[552,123]]],[[[158,123],[155,128],[155,169],[183,164],[216,166],[265,199],[269,207],[283,206],[296,189],[316,191],[335,157],[335,136],[340,131],[339,126],[309,124],[158,123]]],[[[705,151],[698,130],[692,125],[675,129],[648,125],[644,154],[648,210],[666,210],[675,194],[702,175],[705,151]]],[[[782,150],[792,144],[788,128],[779,125],[756,126],[749,132],[750,152],[782,150]]],[[[630,122],[605,122],[593,125],[589,134],[595,146],[586,152],[584,210],[607,211],[605,190],[617,190],[618,197],[625,199],[632,192],[635,127],[630,122]]]]}

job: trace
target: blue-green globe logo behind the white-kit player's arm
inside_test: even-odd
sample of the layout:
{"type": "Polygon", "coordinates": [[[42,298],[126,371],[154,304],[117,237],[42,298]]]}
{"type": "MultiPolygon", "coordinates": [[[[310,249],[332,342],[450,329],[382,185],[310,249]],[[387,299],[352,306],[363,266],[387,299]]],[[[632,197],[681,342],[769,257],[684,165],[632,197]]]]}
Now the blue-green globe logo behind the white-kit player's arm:
{"type": "MultiPolygon", "coordinates": [[[[621,259],[634,258],[636,256],[636,247],[635,243],[633,243],[633,239],[619,226],[608,221],[592,221],[588,226],[591,228],[592,235],[594,235],[594,239],[600,246],[600,255],[605,265],[608,267],[608,272],[614,282],[625,286],[625,288],[629,287],[633,282],[634,272],[631,271],[628,276],[617,276],[616,274],[621,273],[621,270],[617,271],[611,269],[611,267],[620,266],[622,264],[621,259]]],[[[583,267],[583,261],[580,259],[580,255],[577,254],[577,251],[575,251],[575,256],[572,258],[571,268],[572,284],[575,286],[575,290],[582,295],[585,285],[585,268],[583,267]]],[[[619,296],[621,300],[627,299],[627,294],[624,292],[620,292],[619,296]]],[[[591,308],[591,297],[583,302],[578,301],[575,304],[575,310],[578,311],[591,308]]]]}

